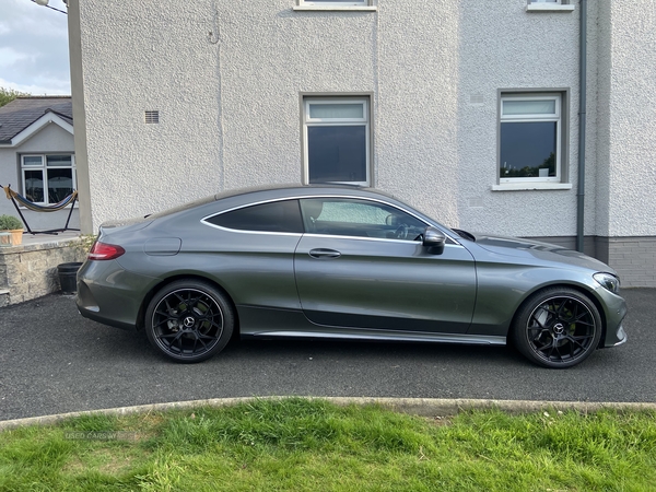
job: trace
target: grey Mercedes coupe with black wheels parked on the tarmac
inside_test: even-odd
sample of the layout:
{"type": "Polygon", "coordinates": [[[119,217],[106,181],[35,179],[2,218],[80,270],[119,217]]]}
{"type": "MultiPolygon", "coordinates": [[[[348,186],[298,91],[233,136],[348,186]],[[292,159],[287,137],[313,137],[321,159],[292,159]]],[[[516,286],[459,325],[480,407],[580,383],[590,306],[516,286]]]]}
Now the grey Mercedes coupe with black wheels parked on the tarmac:
{"type": "Polygon", "coordinates": [[[290,186],[103,224],[77,303],[178,362],[238,333],[509,342],[558,368],[626,340],[619,286],[571,249],[452,230],[372,189],[290,186]]]}

